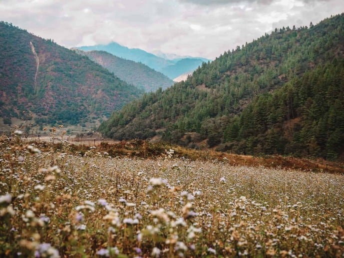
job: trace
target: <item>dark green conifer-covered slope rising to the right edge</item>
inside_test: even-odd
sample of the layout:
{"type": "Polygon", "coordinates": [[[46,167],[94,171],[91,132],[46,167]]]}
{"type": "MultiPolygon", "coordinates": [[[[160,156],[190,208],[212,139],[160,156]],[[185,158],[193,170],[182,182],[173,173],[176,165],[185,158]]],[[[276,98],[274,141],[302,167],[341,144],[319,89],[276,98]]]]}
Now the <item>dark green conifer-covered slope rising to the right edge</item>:
{"type": "Polygon", "coordinates": [[[100,126],[115,139],[161,138],[243,154],[343,159],[344,14],[275,29],[143,97],[100,126]]]}

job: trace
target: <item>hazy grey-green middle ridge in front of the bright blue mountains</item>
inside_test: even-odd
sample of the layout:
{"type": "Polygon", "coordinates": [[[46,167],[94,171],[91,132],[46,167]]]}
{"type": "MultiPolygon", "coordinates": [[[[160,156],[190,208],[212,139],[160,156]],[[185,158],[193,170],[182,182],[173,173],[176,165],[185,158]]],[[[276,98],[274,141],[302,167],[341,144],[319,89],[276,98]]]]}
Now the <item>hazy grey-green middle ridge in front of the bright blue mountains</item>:
{"type": "Polygon", "coordinates": [[[142,88],[146,92],[155,91],[160,87],[166,89],[174,83],[167,76],[145,64],[126,60],[105,51],[82,51],[79,49],[75,51],[78,54],[86,55],[92,61],[113,72],[121,80],[131,83],[137,88],[142,88]]]}

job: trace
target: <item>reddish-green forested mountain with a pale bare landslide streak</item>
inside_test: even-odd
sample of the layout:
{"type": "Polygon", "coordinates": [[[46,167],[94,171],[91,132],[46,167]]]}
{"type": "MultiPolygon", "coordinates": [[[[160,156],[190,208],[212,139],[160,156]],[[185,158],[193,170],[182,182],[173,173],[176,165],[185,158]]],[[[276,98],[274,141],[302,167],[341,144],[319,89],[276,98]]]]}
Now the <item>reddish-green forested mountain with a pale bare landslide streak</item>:
{"type": "Polygon", "coordinates": [[[0,117],[32,111],[38,124],[78,124],[109,116],[137,89],[92,62],[7,22],[0,22],[0,117]]]}

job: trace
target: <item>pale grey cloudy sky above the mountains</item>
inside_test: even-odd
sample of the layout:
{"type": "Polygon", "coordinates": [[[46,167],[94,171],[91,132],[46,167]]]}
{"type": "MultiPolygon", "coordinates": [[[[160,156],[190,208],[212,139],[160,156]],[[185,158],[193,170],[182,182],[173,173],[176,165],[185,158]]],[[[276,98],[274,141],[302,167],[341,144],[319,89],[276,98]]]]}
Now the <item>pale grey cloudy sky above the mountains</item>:
{"type": "Polygon", "coordinates": [[[341,12],[344,0],[0,0],[1,20],[65,47],[115,41],[210,59],[341,12]]]}

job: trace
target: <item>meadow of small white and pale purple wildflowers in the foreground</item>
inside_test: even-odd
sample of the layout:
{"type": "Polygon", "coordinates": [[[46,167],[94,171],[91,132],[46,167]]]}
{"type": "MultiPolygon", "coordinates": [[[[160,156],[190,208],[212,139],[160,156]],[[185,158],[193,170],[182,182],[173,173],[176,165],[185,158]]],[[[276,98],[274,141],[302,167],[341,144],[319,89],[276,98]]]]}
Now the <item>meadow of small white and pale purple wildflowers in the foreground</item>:
{"type": "Polygon", "coordinates": [[[344,177],[0,139],[0,256],[343,257],[344,177]]]}

